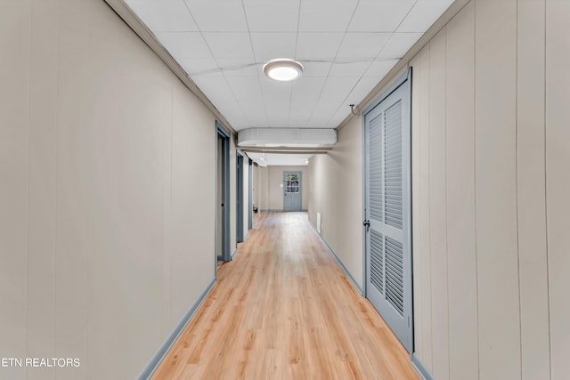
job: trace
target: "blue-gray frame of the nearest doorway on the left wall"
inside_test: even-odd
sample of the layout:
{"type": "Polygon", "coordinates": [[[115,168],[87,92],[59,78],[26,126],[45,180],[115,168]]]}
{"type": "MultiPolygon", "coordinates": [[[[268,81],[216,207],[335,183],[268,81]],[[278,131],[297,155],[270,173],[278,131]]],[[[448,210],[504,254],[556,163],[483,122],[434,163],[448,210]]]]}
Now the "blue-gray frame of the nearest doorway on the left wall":
{"type": "Polygon", "coordinates": [[[229,262],[232,260],[232,253],[230,252],[230,131],[224,128],[224,125],[220,124],[216,120],[216,191],[218,187],[222,189],[222,200],[223,200],[223,209],[222,209],[222,226],[223,230],[219,231],[218,226],[218,199],[216,195],[216,268],[217,268],[217,260],[229,262]],[[217,138],[222,138],[222,152],[218,151],[218,144],[217,138]],[[218,183],[217,181],[217,168],[218,168],[218,159],[222,157],[222,183],[218,183]],[[217,247],[218,241],[218,234],[222,233],[222,255],[217,255],[219,251],[219,247],[217,247]]]}

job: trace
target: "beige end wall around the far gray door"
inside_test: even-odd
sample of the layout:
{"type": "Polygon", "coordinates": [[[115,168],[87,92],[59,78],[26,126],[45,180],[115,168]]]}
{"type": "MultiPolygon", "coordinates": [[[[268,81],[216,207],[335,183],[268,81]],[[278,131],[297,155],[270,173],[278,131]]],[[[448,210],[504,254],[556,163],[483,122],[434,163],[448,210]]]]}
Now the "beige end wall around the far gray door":
{"type": "Polygon", "coordinates": [[[302,189],[302,208],[307,209],[308,194],[311,183],[310,174],[307,166],[265,166],[259,167],[260,173],[260,198],[261,210],[282,210],[283,209],[283,172],[299,171],[301,174],[302,189]]]}

